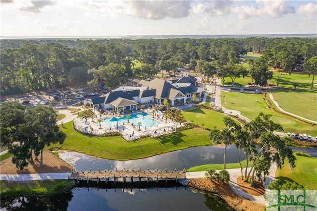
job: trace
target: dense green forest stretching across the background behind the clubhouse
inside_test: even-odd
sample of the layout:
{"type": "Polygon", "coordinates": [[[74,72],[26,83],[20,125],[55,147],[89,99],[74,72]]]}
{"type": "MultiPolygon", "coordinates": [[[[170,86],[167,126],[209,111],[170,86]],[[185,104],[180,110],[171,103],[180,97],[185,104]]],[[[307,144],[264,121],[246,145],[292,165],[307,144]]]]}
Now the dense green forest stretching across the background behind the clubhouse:
{"type": "Polygon", "coordinates": [[[119,82],[125,76],[146,78],[185,64],[201,72],[203,79],[216,74],[220,78],[229,76],[233,83],[236,77],[250,74],[263,86],[271,77],[268,67],[277,68],[280,78],[282,72],[291,72],[316,55],[317,39],[308,38],[3,40],[1,93],[55,89],[88,81],[96,85],[98,80],[107,83],[111,72],[119,82]],[[254,65],[250,72],[237,65],[239,56],[247,52],[264,55],[262,60],[249,61],[254,65]],[[141,67],[134,68],[136,60],[141,67]],[[261,64],[265,65],[259,70],[261,64]],[[94,76],[95,70],[105,68],[108,71],[103,77],[94,76]],[[118,69],[123,72],[114,73],[118,69]]]}

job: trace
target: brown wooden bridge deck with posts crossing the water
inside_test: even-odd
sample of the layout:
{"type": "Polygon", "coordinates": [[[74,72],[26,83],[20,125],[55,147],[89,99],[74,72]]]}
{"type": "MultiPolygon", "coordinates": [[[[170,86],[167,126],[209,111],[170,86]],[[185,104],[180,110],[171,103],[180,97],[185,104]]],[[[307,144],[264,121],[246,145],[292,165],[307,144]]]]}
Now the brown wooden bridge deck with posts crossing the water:
{"type": "Polygon", "coordinates": [[[127,178],[133,181],[133,178],[146,178],[149,179],[186,179],[184,170],[97,170],[97,171],[81,171],[72,173],[69,179],[72,180],[95,180],[106,179],[117,181],[122,178],[125,181],[127,178]]]}

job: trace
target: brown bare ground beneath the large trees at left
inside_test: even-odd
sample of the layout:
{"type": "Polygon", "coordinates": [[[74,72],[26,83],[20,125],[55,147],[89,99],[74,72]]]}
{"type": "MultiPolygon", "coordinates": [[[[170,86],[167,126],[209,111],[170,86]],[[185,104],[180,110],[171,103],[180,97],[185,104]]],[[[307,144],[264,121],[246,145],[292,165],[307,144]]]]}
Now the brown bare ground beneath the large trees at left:
{"type": "MultiPolygon", "coordinates": [[[[40,159],[40,156],[39,156],[40,159]]],[[[40,160],[35,160],[34,163],[30,163],[23,170],[17,170],[15,164],[11,162],[11,158],[7,158],[0,162],[1,174],[35,174],[35,173],[63,173],[71,172],[73,167],[66,163],[61,158],[55,156],[51,151],[45,150],[43,153],[44,166],[40,167],[40,160]]]]}

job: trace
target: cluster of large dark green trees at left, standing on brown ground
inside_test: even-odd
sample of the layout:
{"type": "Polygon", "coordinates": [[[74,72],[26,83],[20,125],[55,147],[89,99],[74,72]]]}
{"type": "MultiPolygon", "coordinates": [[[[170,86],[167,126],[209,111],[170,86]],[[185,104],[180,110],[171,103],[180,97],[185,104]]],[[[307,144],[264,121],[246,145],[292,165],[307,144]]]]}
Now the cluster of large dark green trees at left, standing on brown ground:
{"type": "Polygon", "coordinates": [[[40,156],[43,166],[43,150],[52,143],[63,143],[66,134],[56,124],[56,111],[52,106],[24,106],[17,101],[1,105],[1,145],[8,146],[12,162],[22,170],[33,162],[33,154],[40,156]]]}

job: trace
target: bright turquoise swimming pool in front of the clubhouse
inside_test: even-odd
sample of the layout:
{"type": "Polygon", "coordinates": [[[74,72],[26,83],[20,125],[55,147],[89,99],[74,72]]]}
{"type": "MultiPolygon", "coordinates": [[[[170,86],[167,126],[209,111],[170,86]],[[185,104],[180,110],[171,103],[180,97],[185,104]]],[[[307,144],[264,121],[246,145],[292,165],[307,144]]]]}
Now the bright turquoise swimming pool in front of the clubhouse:
{"type": "MultiPolygon", "coordinates": [[[[104,118],[102,125],[105,127],[116,127],[118,125],[123,125],[123,123],[127,123],[128,119],[126,118],[127,115],[122,117],[111,117],[111,118],[104,118]]],[[[129,122],[135,124],[135,127],[138,127],[138,122],[142,123],[141,128],[150,128],[154,125],[159,124],[159,122],[155,119],[151,119],[151,116],[147,113],[133,113],[130,114],[129,122]]]]}

